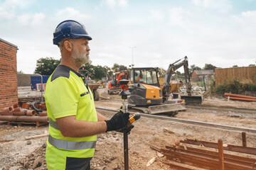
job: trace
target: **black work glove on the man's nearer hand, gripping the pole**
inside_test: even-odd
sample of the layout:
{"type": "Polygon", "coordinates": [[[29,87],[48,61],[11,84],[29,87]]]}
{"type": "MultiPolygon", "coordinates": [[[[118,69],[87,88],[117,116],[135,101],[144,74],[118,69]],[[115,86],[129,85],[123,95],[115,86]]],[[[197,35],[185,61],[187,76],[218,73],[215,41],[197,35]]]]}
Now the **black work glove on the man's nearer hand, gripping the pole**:
{"type": "Polygon", "coordinates": [[[110,120],[105,120],[107,123],[107,132],[127,127],[128,121],[129,113],[123,113],[122,111],[115,113],[110,120]]]}

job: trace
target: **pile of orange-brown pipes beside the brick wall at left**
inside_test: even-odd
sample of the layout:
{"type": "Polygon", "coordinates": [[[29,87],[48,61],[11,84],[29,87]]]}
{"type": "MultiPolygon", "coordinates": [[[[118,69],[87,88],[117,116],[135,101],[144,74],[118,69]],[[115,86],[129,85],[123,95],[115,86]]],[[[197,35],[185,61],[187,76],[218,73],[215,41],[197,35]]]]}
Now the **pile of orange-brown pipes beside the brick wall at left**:
{"type": "Polygon", "coordinates": [[[0,120],[8,121],[8,124],[46,125],[48,124],[46,103],[39,101],[24,103],[19,101],[13,106],[1,109],[0,120]]]}

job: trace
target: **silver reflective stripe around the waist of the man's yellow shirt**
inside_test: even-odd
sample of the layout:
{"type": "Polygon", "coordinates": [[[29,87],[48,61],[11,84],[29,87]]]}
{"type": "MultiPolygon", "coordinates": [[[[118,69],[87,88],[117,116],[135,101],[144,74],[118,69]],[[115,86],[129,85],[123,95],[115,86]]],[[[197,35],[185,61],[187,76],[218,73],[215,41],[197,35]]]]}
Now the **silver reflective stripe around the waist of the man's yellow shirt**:
{"type": "Polygon", "coordinates": [[[48,142],[60,149],[94,149],[96,146],[96,141],[74,142],[68,140],[58,140],[50,135],[48,136],[48,142]]]}

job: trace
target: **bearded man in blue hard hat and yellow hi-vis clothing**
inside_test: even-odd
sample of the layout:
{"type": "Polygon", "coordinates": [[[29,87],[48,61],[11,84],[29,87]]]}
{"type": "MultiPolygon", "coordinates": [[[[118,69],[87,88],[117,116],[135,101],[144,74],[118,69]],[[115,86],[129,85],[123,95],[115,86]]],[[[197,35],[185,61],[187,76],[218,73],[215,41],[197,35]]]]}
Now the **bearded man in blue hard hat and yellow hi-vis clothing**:
{"type": "Polygon", "coordinates": [[[90,169],[97,134],[126,127],[129,113],[114,114],[108,120],[97,113],[92,91],[78,69],[89,62],[92,40],[85,26],[63,21],[53,33],[61,62],[46,84],[49,136],[46,147],[48,169],[90,169]]]}

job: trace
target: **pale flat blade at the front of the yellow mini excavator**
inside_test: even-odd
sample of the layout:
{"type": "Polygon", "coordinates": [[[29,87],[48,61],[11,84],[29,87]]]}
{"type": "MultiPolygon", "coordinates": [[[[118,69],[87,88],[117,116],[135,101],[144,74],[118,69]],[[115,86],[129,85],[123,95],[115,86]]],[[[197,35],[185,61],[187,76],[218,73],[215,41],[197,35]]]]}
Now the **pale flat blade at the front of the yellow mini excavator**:
{"type": "Polygon", "coordinates": [[[171,112],[185,111],[185,110],[186,108],[181,103],[149,106],[149,114],[171,113],[171,112]]]}

